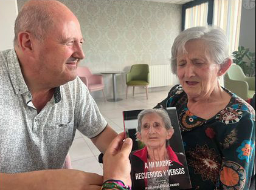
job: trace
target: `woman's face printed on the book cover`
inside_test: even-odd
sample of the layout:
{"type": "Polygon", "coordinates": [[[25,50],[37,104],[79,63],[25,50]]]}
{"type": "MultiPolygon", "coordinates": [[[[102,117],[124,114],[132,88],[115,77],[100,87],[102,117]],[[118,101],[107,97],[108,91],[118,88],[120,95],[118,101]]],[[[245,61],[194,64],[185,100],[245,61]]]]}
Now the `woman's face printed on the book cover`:
{"type": "Polygon", "coordinates": [[[167,131],[162,118],[157,113],[145,114],[142,117],[142,126],[138,138],[146,146],[152,148],[165,146],[165,140],[170,139],[172,135],[171,129],[167,131]]]}

